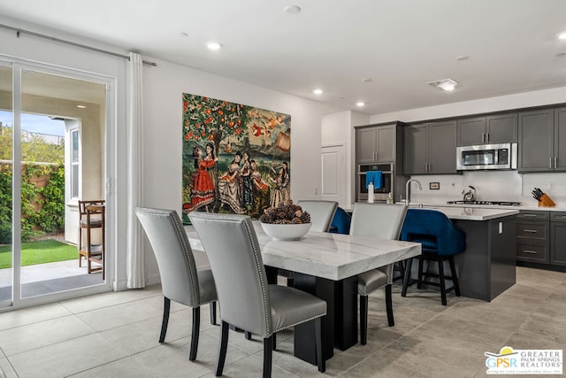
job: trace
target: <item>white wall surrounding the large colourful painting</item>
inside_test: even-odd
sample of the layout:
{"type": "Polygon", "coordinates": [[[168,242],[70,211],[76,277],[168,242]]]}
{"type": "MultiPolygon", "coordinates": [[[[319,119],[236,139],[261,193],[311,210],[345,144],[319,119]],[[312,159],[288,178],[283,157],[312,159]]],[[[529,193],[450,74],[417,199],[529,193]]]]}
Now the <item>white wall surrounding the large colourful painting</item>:
{"type": "MultiPolygon", "coordinates": [[[[183,93],[291,115],[291,198],[312,198],[321,186],[321,104],[155,58],[143,70],[143,204],[181,211],[183,93]]],[[[146,253],[149,282],[157,266],[146,253]]]]}

